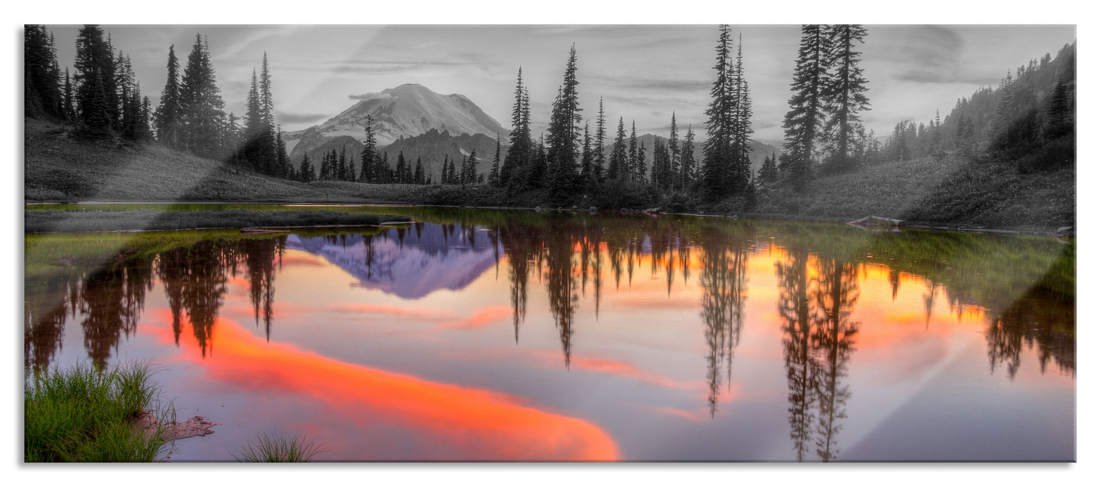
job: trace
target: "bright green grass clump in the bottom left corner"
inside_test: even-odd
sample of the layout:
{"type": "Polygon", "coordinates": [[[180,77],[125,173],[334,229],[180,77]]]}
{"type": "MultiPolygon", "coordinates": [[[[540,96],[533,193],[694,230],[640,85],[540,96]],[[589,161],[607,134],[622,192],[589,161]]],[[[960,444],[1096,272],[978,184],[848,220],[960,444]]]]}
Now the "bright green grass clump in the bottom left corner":
{"type": "MultiPolygon", "coordinates": [[[[157,426],[135,428],[157,399],[149,364],[99,371],[78,365],[67,371],[24,376],[23,461],[157,462],[168,442],[157,426]]],[[[164,422],[162,422],[164,424],[164,422]]]]}

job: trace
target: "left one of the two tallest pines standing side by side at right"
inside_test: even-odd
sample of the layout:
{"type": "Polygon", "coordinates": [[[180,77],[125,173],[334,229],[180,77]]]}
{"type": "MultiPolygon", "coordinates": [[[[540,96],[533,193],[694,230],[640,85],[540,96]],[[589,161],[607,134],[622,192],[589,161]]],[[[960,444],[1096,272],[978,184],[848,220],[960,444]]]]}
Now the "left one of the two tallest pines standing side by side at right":
{"type": "Polygon", "coordinates": [[[796,188],[806,187],[810,178],[815,142],[822,137],[826,123],[822,90],[829,76],[830,47],[827,28],[803,25],[795,75],[792,80],[791,110],[784,116],[784,152],[780,169],[783,177],[796,188]]]}

